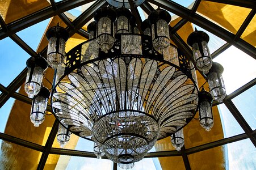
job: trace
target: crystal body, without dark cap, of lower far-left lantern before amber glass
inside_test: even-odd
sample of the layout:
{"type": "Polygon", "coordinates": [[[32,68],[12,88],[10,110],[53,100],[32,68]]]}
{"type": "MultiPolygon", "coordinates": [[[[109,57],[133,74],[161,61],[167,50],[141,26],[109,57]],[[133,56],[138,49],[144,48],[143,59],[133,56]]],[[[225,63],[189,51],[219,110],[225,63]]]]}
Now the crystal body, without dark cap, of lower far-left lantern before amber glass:
{"type": "Polygon", "coordinates": [[[47,100],[43,96],[36,96],[33,99],[30,120],[35,127],[38,127],[44,121],[47,100]]]}

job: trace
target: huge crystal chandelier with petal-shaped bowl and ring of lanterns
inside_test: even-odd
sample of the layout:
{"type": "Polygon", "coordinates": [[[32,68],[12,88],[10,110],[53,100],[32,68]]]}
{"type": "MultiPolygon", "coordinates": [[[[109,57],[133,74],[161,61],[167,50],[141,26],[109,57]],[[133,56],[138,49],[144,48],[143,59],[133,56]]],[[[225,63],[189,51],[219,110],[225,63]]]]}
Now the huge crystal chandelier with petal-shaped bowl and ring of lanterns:
{"type": "MultiPolygon", "coordinates": [[[[209,37],[196,30],[188,38],[196,67],[211,78],[211,94],[204,89],[199,94],[194,65],[170,44],[169,12],[153,11],[140,33],[124,1],[121,7],[120,3],[117,10],[99,8],[94,13],[95,22],[87,27],[89,40],[66,54],[68,32],[60,25],[50,28],[47,60],[56,70],[51,106],[60,122],[58,142],[63,146],[70,133],[76,134],[94,141],[98,158],[106,155],[120,168],[129,169],[157,140],[171,136],[171,143],[181,150],[183,127],[198,109],[200,124],[211,129],[211,96],[222,101],[225,87],[223,68],[218,69],[219,64],[211,61],[209,37]]],[[[42,64],[46,62],[43,57],[31,58],[26,92],[38,106],[32,108],[31,120],[39,126],[49,98],[40,96],[44,94],[40,89],[45,91],[41,82],[47,66],[42,64]]]]}

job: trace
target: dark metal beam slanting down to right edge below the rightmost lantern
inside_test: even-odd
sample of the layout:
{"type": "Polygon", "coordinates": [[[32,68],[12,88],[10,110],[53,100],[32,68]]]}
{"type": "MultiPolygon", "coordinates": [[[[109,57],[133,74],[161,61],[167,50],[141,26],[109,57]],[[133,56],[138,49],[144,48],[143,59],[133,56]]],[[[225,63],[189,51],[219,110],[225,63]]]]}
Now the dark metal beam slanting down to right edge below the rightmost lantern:
{"type": "Polygon", "coordinates": [[[245,131],[247,136],[250,138],[253,145],[256,147],[256,138],[252,135],[253,130],[250,128],[250,126],[245,121],[245,118],[242,116],[242,114],[238,111],[236,106],[231,100],[224,100],[224,104],[229,109],[229,111],[233,114],[234,118],[236,118],[236,121],[241,126],[241,128],[245,131]]]}

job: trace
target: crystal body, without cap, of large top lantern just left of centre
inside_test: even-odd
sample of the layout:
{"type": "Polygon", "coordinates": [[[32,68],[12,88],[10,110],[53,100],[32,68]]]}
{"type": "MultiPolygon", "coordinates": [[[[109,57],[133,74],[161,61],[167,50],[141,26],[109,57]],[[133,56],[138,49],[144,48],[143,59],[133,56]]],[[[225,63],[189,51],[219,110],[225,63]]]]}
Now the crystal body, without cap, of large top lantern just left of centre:
{"type": "Polygon", "coordinates": [[[111,30],[112,22],[110,18],[102,17],[98,22],[98,43],[99,48],[103,50],[103,52],[107,53],[107,50],[110,49],[114,45],[114,37],[112,36],[111,30]]]}

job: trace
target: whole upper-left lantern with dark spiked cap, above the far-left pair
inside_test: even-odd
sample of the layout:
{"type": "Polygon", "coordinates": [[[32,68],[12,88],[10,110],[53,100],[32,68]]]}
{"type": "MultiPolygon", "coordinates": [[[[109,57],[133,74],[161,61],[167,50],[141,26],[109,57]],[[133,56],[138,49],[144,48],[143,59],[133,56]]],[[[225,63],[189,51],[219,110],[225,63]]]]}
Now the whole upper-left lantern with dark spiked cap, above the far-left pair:
{"type": "Polygon", "coordinates": [[[57,26],[51,27],[47,31],[46,37],[49,41],[47,49],[48,63],[53,69],[57,69],[64,62],[65,43],[69,39],[69,33],[57,24],[57,26]]]}

